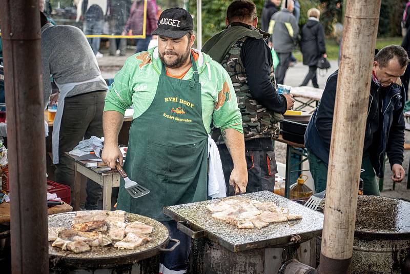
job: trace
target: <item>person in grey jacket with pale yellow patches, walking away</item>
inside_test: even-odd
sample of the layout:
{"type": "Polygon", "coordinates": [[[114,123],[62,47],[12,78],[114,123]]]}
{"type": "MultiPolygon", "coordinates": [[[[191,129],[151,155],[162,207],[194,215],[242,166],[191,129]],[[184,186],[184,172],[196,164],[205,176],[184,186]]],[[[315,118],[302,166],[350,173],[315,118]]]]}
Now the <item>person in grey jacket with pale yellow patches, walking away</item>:
{"type": "Polygon", "coordinates": [[[282,9],[272,15],[269,23],[268,32],[272,34],[272,44],[279,57],[279,64],[275,69],[277,84],[283,84],[299,34],[299,26],[292,14],[293,8],[293,0],[283,1],[282,9]],[[285,7],[286,2],[288,2],[287,7],[285,7]]]}

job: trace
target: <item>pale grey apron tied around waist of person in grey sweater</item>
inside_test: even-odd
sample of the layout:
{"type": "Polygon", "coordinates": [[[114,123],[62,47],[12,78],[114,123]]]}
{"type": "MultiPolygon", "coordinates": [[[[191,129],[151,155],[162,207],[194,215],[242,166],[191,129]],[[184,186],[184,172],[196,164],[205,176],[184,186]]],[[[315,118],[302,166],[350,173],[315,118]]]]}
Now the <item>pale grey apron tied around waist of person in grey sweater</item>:
{"type": "MultiPolygon", "coordinates": [[[[67,94],[77,85],[101,81],[101,80],[105,81],[103,76],[101,76],[100,74],[97,77],[94,77],[93,79],[90,79],[84,82],[58,84],[57,82],[54,81],[60,91],[60,94],[58,94],[58,102],[57,102],[58,107],[57,107],[57,112],[55,113],[54,125],[53,125],[53,135],[52,135],[53,164],[58,164],[58,141],[60,138],[60,127],[61,127],[61,118],[63,117],[64,100],[66,99],[67,94]]],[[[78,119],[81,119],[81,117],[78,117],[78,119]]]]}

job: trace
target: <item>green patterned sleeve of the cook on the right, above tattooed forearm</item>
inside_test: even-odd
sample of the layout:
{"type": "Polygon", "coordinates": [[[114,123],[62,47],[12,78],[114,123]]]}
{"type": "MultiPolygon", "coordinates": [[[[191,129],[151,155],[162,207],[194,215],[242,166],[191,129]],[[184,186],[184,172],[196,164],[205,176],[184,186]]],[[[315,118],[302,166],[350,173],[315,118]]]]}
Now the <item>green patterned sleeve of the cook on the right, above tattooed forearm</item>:
{"type": "Polygon", "coordinates": [[[212,115],[214,126],[220,130],[233,128],[243,134],[242,115],[231,78],[222,67],[221,70],[222,79],[218,79],[218,101],[212,115]]]}

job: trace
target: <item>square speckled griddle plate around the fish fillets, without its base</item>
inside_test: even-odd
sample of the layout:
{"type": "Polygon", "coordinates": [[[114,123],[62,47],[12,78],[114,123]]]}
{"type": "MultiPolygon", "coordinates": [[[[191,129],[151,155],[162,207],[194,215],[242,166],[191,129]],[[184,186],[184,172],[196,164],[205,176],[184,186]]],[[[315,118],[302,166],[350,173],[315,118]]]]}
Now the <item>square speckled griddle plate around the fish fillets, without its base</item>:
{"type": "Polygon", "coordinates": [[[274,202],[277,206],[289,208],[291,213],[300,214],[303,219],[274,223],[261,229],[240,229],[211,218],[211,212],[206,206],[219,202],[219,199],[169,206],[163,209],[163,213],[175,221],[188,221],[196,230],[203,230],[205,237],[232,252],[286,244],[291,241],[292,236],[295,234],[299,234],[303,240],[320,236],[322,233],[322,213],[273,192],[259,191],[224,199],[235,198],[274,202]]]}

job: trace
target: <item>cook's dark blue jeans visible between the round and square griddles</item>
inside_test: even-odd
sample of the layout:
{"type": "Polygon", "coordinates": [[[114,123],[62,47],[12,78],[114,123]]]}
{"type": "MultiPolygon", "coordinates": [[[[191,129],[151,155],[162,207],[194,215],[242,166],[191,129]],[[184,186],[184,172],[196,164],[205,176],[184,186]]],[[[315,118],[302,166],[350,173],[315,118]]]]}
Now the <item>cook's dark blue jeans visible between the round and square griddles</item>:
{"type": "MultiPolygon", "coordinates": [[[[167,267],[169,270],[186,270],[189,266],[189,254],[191,252],[191,238],[178,230],[177,222],[166,221],[161,222],[170,231],[170,237],[180,241],[179,246],[174,251],[160,254],[160,263],[167,267]]],[[[167,248],[170,248],[175,243],[170,243],[167,248]]]]}

